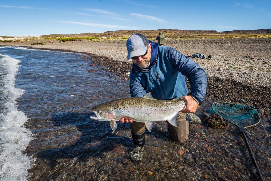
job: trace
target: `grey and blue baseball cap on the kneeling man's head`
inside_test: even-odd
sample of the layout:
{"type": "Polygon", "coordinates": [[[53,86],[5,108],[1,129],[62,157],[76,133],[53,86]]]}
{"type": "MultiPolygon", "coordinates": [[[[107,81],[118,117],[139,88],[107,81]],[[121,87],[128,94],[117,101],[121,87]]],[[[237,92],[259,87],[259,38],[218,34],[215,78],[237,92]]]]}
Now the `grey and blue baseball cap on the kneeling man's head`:
{"type": "Polygon", "coordinates": [[[126,42],[128,50],[127,60],[134,56],[144,55],[149,44],[150,42],[145,35],[140,33],[132,34],[126,42]]]}

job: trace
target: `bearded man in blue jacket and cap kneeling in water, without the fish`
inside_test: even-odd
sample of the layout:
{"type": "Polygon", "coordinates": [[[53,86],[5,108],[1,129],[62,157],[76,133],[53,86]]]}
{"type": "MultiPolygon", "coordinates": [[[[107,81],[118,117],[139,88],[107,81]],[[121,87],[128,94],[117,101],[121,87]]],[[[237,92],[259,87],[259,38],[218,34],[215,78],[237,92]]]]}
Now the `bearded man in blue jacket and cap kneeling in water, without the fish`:
{"type": "MultiPolygon", "coordinates": [[[[207,87],[206,72],[177,50],[167,46],[158,46],[140,33],[130,36],[126,46],[127,60],[131,58],[133,61],[130,72],[131,97],[142,97],[151,92],[152,96],[159,100],[177,97],[185,101],[184,108],[177,116],[177,126],[168,122],[170,138],[184,143],[189,134],[186,113],[195,113],[198,105],[203,102],[207,87]],[[185,76],[191,85],[189,95],[185,76]]],[[[145,145],[145,123],[133,122],[133,119],[129,117],[120,119],[120,122],[124,121],[131,122],[134,144],[131,159],[141,161],[145,145]]]]}

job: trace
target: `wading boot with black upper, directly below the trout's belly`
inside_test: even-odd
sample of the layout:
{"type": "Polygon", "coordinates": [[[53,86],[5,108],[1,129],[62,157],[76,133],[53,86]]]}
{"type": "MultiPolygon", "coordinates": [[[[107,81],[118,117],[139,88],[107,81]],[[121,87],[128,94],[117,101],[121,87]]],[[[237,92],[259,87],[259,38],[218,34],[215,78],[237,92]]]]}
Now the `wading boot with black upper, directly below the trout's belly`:
{"type": "Polygon", "coordinates": [[[134,146],[129,151],[130,159],[133,162],[141,162],[143,160],[143,150],[145,148],[145,131],[140,134],[132,133],[132,138],[134,146]]]}

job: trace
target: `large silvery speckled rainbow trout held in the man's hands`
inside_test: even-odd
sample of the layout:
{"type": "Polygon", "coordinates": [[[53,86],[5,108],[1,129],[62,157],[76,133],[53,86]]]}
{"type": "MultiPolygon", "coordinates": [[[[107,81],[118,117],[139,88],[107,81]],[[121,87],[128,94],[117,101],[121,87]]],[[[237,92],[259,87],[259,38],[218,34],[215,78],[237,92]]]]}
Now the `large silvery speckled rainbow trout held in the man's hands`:
{"type": "Polygon", "coordinates": [[[146,128],[151,131],[154,121],[167,120],[171,125],[177,126],[178,112],[185,106],[184,100],[157,100],[151,92],[143,97],[116,99],[101,103],[92,108],[95,115],[91,119],[110,121],[113,132],[117,129],[116,121],[122,117],[132,118],[136,122],[145,122],[146,128]]]}

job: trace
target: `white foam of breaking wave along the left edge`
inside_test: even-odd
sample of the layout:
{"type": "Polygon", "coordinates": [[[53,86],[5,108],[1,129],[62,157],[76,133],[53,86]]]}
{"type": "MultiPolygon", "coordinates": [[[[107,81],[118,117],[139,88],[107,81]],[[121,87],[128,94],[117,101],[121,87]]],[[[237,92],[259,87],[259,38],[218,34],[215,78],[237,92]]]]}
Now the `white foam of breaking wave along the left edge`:
{"type": "Polygon", "coordinates": [[[33,139],[33,134],[23,127],[28,118],[17,110],[16,99],[24,94],[23,89],[15,87],[15,75],[20,61],[0,55],[1,67],[6,69],[4,78],[0,80],[4,85],[0,87],[0,92],[5,98],[6,108],[0,113],[0,180],[27,180],[27,170],[33,166],[35,160],[23,154],[23,150],[33,139]]]}

